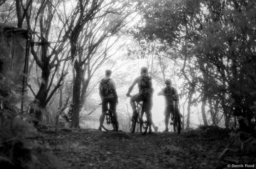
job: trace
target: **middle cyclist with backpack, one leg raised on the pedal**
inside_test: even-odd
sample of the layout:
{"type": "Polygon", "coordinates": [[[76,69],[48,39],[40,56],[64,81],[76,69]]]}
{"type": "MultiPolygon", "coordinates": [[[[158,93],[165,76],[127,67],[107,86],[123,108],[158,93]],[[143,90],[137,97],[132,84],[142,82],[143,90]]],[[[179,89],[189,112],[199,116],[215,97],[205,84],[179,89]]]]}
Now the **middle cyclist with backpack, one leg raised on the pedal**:
{"type": "Polygon", "coordinates": [[[148,133],[152,134],[152,113],[151,109],[153,106],[153,99],[152,95],[154,92],[154,88],[152,87],[151,77],[147,76],[147,67],[141,67],[140,69],[140,76],[135,78],[134,82],[130,86],[126,96],[129,97],[131,91],[133,90],[134,86],[138,84],[139,92],[134,94],[130,99],[130,104],[133,109],[133,118],[137,117],[138,112],[136,110],[135,102],[143,101],[143,107],[147,114],[147,120],[149,122],[149,130],[148,133]]]}

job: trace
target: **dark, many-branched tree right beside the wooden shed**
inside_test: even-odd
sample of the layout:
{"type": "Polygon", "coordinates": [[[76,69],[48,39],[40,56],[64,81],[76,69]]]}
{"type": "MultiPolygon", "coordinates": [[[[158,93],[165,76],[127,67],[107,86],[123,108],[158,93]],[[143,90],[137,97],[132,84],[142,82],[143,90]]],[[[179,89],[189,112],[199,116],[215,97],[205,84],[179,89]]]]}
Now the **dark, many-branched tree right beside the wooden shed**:
{"type": "MultiPolygon", "coordinates": [[[[41,121],[42,111],[67,75],[67,73],[63,71],[61,71],[60,75],[56,75],[59,73],[60,63],[69,60],[63,53],[61,55],[61,51],[65,49],[65,45],[67,45],[67,43],[64,42],[65,37],[63,38],[64,40],[59,40],[63,29],[52,30],[53,20],[55,19],[55,14],[59,7],[57,4],[59,2],[60,1],[54,1],[50,3],[49,1],[42,1],[38,4],[32,4],[32,1],[27,1],[26,3],[19,0],[16,1],[18,27],[27,27],[28,30],[32,30],[32,27],[36,30],[38,27],[38,32],[40,32],[40,35],[34,38],[34,40],[39,40],[40,42],[31,41],[30,43],[33,58],[36,65],[41,69],[38,91],[33,91],[31,85],[29,85],[35,96],[30,113],[35,113],[35,117],[38,121],[41,121]],[[39,5],[39,8],[37,9],[36,6],[32,5],[39,5]],[[24,25],[24,20],[26,20],[26,25],[24,25]],[[37,25],[38,22],[39,26],[37,25]],[[32,23],[34,23],[33,26],[31,26],[32,23]],[[55,33],[58,36],[52,36],[52,31],[56,31],[55,33]],[[49,42],[51,38],[55,38],[59,41],[56,41],[55,45],[53,45],[53,43],[49,42]],[[56,82],[54,81],[55,75],[60,76],[56,82]]],[[[30,40],[32,39],[32,37],[29,38],[30,40]]]]}

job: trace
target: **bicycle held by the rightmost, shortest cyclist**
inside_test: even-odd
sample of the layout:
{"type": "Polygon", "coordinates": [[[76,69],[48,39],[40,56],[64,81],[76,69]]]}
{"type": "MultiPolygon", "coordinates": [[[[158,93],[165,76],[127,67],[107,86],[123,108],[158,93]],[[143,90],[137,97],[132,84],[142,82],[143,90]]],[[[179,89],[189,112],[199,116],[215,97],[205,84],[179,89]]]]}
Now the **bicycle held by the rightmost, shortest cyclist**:
{"type": "Polygon", "coordinates": [[[171,95],[174,98],[174,111],[172,113],[172,121],[170,122],[170,125],[173,125],[174,127],[174,132],[176,132],[176,130],[178,130],[178,133],[180,133],[181,130],[181,116],[180,116],[180,111],[177,105],[177,99],[175,98],[176,95],[172,95],[172,94],[165,94],[165,95],[171,95]]]}

